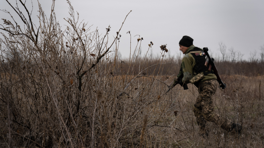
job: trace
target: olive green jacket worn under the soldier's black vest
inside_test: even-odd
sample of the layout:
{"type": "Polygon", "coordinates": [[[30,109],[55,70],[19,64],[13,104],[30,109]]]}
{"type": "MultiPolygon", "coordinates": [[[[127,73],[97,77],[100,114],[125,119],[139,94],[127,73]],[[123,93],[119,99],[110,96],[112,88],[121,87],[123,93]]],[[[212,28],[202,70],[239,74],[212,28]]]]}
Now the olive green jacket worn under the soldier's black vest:
{"type": "MultiPolygon", "coordinates": [[[[192,50],[192,49],[194,49],[194,48],[195,48],[195,46],[192,45],[192,46],[190,46],[190,47],[186,50],[185,55],[184,55],[184,57],[183,57],[183,59],[182,59],[182,61],[181,61],[181,69],[180,69],[180,72],[179,72],[179,74],[177,75],[177,77],[180,77],[181,74],[183,74],[182,82],[185,82],[186,84],[187,84],[187,83],[190,83],[189,80],[190,80],[191,78],[193,78],[194,75],[195,75],[195,74],[193,73],[193,68],[194,68],[196,62],[195,62],[195,59],[194,59],[194,57],[192,56],[192,54],[189,53],[190,50],[192,50]],[[186,80],[185,80],[185,79],[186,79],[186,80]]],[[[201,49],[201,48],[200,48],[200,49],[201,49]]],[[[201,49],[201,50],[203,51],[203,49],[201,49]]],[[[207,72],[207,71],[206,71],[206,72],[207,72]]],[[[212,80],[212,79],[217,79],[215,74],[208,74],[208,75],[204,76],[204,78],[203,78],[200,82],[202,82],[202,81],[204,81],[204,80],[212,80]]]]}

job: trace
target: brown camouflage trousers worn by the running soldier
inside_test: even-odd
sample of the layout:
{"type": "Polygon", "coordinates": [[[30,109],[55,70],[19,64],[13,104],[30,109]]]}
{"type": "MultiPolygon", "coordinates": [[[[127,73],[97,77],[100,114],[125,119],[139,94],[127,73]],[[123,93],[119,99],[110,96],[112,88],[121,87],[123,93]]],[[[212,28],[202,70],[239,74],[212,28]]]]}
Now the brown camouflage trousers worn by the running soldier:
{"type": "Polygon", "coordinates": [[[214,122],[226,131],[229,131],[232,121],[223,118],[214,111],[214,104],[212,96],[217,89],[217,80],[205,80],[199,83],[198,91],[199,97],[197,98],[193,112],[196,116],[196,122],[200,127],[201,134],[208,134],[206,130],[207,121],[214,122]]]}

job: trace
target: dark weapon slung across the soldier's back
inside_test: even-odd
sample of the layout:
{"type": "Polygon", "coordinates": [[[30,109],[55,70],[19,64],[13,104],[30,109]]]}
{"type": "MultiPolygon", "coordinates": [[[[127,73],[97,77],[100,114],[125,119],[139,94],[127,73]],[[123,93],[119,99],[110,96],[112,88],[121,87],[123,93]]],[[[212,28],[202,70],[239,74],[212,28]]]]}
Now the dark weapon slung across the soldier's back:
{"type": "Polygon", "coordinates": [[[217,81],[219,83],[219,88],[221,87],[222,89],[225,89],[227,87],[227,85],[221,80],[221,78],[220,78],[220,76],[218,74],[217,68],[215,67],[214,59],[213,58],[210,58],[210,55],[207,52],[208,51],[208,48],[207,47],[204,47],[203,50],[204,50],[204,53],[206,55],[206,62],[205,62],[205,64],[206,64],[206,66],[207,66],[207,64],[210,64],[208,70],[210,71],[211,68],[212,68],[212,70],[214,71],[214,74],[216,75],[217,81]]]}

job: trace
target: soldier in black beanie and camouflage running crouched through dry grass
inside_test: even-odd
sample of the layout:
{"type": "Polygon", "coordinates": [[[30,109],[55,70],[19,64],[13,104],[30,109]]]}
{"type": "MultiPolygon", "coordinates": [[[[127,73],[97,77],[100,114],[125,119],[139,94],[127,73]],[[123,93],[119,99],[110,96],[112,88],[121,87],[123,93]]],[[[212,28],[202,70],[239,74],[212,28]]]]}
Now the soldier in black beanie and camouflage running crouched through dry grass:
{"type": "Polygon", "coordinates": [[[193,39],[189,36],[183,36],[179,42],[180,51],[184,55],[181,63],[181,69],[177,77],[181,83],[192,83],[199,91],[199,97],[193,107],[196,122],[200,127],[202,136],[208,136],[206,130],[207,121],[214,122],[226,131],[235,131],[240,135],[242,126],[236,124],[214,111],[212,96],[215,93],[218,82],[216,75],[212,70],[205,66],[205,55],[203,49],[193,45],[193,39]],[[181,79],[182,78],[182,79],[181,79]]]}

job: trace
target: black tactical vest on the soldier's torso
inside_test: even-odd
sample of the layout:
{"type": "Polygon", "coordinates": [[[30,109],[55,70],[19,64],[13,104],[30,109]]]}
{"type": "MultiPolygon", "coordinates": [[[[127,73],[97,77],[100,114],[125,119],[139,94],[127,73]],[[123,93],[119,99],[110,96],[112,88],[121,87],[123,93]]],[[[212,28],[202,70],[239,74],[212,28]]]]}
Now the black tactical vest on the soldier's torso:
{"type": "Polygon", "coordinates": [[[206,62],[206,55],[204,51],[202,51],[199,47],[195,47],[194,49],[190,50],[189,52],[192,54],[193,58],[195,59],[196,64],[193,67],[193,74],[199,74],[204,72],[204,75],[213,74],[213,71],[209,71],[209,64],[205,64],[206,62]],[[207,71],[207,72],[206,72],[207,71]]]}

